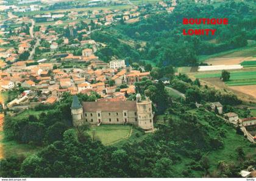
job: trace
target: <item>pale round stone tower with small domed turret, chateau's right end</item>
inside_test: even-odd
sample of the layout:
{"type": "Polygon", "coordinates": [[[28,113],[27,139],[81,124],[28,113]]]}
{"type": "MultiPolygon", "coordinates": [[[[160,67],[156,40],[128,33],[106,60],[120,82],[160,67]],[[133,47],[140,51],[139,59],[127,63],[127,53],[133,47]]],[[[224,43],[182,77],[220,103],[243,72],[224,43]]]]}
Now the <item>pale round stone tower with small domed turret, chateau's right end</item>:
{"type": "Polygon", "coordinates": [[[138,114],[138,126],[142,129],[152,130],[153,125],[153,112],[152,102],[147,97],[146,100],[141,100],[141,95],[136,95],[137,100],[137,114],[138,114]]]}

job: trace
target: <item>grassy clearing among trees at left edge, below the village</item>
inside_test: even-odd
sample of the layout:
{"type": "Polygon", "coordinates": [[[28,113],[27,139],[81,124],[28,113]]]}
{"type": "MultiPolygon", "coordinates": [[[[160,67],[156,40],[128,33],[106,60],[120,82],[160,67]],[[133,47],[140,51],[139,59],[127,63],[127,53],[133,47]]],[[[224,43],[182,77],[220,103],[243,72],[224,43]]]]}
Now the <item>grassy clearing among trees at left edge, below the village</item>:
{"type": "Polygon", "coordinates": [[[15,141],[5,140],[4,132],[0,132],[0,159],[12,155],[31,155],[40,151],[42,148],[28,144],[20,144],[15,141]]]}

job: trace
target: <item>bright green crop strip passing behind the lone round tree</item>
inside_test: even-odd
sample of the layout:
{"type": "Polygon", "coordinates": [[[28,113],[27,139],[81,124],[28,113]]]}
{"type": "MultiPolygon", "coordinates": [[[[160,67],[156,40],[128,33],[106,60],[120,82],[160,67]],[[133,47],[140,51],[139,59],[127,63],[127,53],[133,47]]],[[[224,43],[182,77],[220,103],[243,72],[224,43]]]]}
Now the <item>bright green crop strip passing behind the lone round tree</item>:
{"type": "MultiPolygon", "coordinates": [[[[199,73],[196,78],[221,77],[219,73],[199,73]]],[[[225,82],[227,86],[247,86],[256,84],[256,71],[235,71],[230,72],[230,80],[225,82]]]]}

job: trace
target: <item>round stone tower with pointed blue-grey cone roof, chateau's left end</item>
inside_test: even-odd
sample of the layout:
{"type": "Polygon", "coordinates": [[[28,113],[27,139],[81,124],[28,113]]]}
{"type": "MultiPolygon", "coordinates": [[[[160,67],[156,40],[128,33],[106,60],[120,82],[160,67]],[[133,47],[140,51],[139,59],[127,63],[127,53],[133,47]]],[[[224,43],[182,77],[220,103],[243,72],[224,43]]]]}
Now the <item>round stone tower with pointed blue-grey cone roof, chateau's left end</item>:
{"type": "Polygon", "coordinates": [[[74,95],[73,102],[71,105],[71,114],[73,118],[73,125],[74,126],[80,126],[83,124],[83,107],[80,104],[78,97],[74,95]]]}

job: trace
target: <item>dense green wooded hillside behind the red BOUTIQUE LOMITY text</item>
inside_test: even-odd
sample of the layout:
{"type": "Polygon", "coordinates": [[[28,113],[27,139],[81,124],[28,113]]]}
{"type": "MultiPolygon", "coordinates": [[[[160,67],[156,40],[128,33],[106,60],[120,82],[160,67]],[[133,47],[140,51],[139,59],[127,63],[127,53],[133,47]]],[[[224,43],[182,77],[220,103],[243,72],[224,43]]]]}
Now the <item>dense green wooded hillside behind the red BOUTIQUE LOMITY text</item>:
{"type": "Polygon", "coordinates": [[[224,1],[219,5],[179,3],[172,13],[146,11],[133,24],[121,22],[93,32],[91,38],[107,44],[97,55],[104,61],[112,56],[140,62],[149,60],[157,66],[196,66],[199,55],[211,55],[244,47],[256,40],[256,18],[244,2],[224,1]],[[228,25],[183,25],[183,18],[227,18],[228,25]],[[183,29],[216,29],[215,35],[184,36],[183,29]]]}

